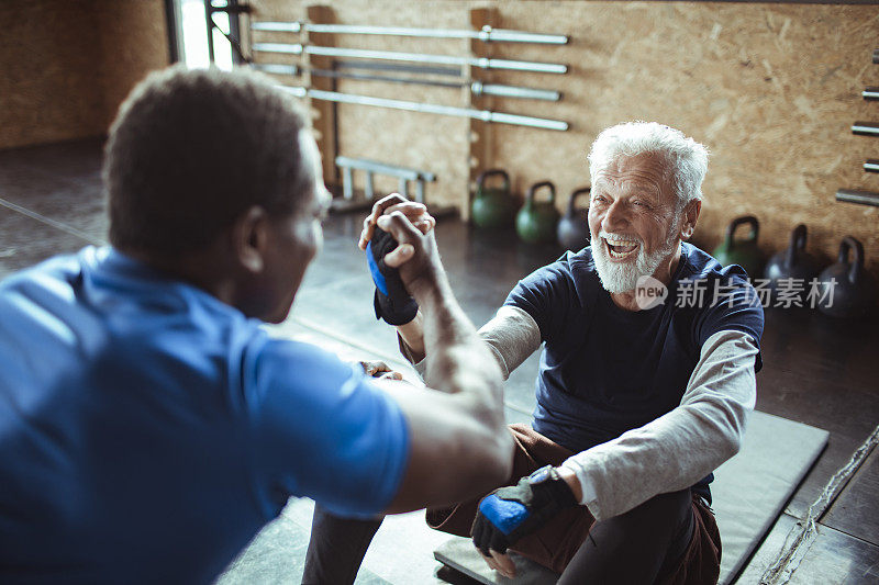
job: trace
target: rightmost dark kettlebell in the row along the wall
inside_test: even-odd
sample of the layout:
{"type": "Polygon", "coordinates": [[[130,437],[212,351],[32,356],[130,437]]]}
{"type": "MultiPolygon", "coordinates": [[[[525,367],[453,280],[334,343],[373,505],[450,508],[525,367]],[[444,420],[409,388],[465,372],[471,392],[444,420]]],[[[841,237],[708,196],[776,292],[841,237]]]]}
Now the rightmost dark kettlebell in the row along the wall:
{"type": "Polygon", "coordinates": [[[876,303],[876,283],[864,270],[864,246],[852,236],[843,238],[836,263],[825,268],[817,280],[817,307],[825,315],[860,317],[876,303]],[[855,255],[852,262],[849,251],[855,255]]]}

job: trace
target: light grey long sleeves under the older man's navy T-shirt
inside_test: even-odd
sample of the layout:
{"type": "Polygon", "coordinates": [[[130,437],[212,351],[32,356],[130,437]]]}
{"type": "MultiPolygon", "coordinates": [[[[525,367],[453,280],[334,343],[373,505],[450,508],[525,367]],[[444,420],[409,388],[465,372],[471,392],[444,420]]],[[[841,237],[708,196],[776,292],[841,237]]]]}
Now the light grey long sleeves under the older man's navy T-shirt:
{"type": "MultiPolygon", "coordinates": [[[[479,335],[504,379],[541,345],[537,324],[512,306],[501,307],[479,335]]],[[[701,348],[680,405],[563,463],[580,482],[580,504],[597,520],[611,518],[657,494],[693,485],[734,455],[756,402],[757,353],[757,344],[745,333],[712,335],[701,348]]],[[[423,368],[424,360],[415,364],[420,372],[423,368]]]]}

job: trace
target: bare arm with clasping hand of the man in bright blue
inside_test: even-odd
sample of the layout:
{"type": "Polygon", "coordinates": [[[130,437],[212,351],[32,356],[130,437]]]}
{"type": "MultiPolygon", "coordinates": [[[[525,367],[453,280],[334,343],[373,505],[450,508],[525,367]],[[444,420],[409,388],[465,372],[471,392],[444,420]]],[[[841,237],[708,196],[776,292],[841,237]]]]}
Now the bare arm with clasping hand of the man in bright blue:
{"type": "MultiPolygon", "coordinates": [[[[374,211],[381,213],[382,202],[397,199],[386,198],[374,211]]],[[[399,270],[421,307],[401,336],[415,346],[421,337],[431,356],[425,389],[397,384],[387,391],[409,428],[405,473],[388,509],[404,511],[474,497],[498,485],[512,469],[500,368],[452,294],[433,233],[415,229],[400,210],[376,222],[399,244],[385,255],[386,266],[399,270]]]]}

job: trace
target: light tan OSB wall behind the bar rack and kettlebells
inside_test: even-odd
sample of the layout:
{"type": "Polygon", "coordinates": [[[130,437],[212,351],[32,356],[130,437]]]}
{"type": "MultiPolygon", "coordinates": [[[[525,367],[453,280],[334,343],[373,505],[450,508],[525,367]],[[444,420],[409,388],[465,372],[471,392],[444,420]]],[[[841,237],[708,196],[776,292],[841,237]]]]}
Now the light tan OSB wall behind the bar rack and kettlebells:
{"type": "MultiPolygon", "coordinates": [[[[299,20],[321,2],[258,0],[255,20],[299,20]]],[[[655,120],[706,144],[711,165],[696,240],[719,243],[733,217],[761,221],[768,251],[787,245],[794,224],[810,228],[810,248],[834,257],[839,238],[858,237],[879,271],[879,210],[836,203],[837,188],[879,190],[879,176],[861,171],[879,154],[876,138],[853,136],[856,120],[879,119],[865,86],[879,85],[879,11],[872,5],[336,0],[336,22],[469,27],[469,10],[493,8],[496,26],[561,33],[563,47],[494,44],[492,56],[559,61],[567,75],[491,72],[494,82],[564,91],[559,103],[493,99],[502,112],[565,120],[566,133],[491,126],[490,160],[511,172],[521,194],[545,178],[567,193],[588,184],[586,153],[604,127],[655,120]]],[[[297,42],[262,33],[259,41],[297,42]]],[[[337,35],[337,46],[463,55],[465,41],[337,35]]],[[[296,58],[259,54],[263,61],[296,58]]],[[[296,79],[285,82],[296,83],[296,79]]],[[[341,80],[338,91],[466,105],[460,90],[341,80]]],[[[429,201],[466,205],[466,120],[363,105],[338,105],[341,154],[431,170],[429,201]]],[[[324,154],[327,156],[327,154],[324,154]]],[[[388,190],[396,188],[389,181],[388,190]]]]}

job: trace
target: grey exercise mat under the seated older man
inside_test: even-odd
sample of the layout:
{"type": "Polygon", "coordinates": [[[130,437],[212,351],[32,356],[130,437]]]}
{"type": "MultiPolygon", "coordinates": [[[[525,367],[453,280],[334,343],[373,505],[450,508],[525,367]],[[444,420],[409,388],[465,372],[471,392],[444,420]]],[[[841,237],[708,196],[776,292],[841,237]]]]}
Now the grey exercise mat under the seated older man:
{"type": "MultiPolygon", "coordinates": [[[[730,583],[827,445],[826,430],[755,412],[739,453],[714,472],[711,491],[723,541],[720,583],[730,583]]],[[[557,575],[518,558],[516,578],[489,570],[469,539],[452,537],[437,561],[486,584],[555,583],[557,575]]]]}

